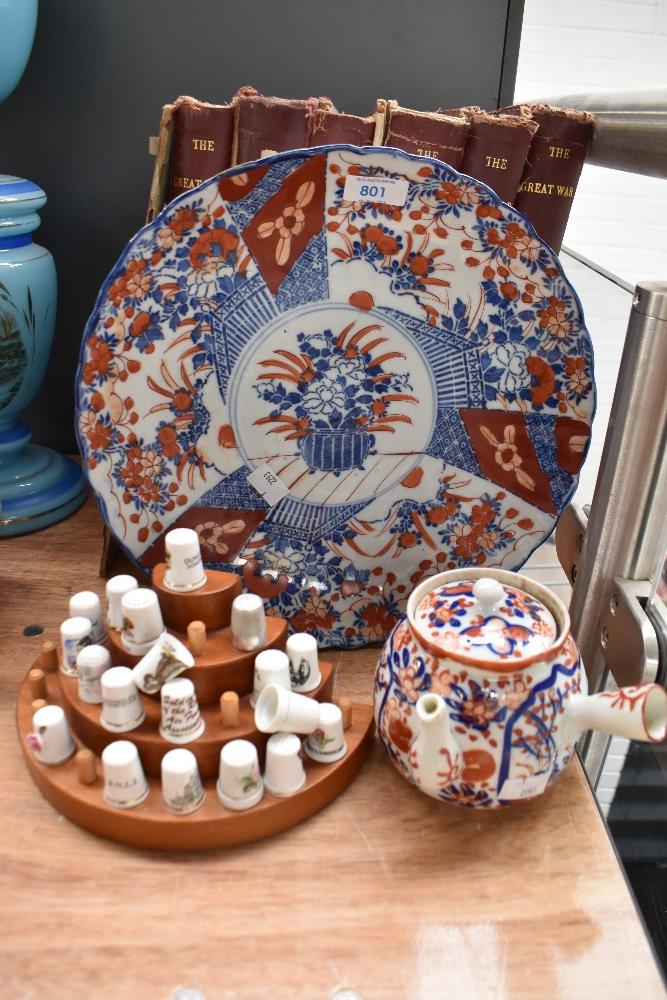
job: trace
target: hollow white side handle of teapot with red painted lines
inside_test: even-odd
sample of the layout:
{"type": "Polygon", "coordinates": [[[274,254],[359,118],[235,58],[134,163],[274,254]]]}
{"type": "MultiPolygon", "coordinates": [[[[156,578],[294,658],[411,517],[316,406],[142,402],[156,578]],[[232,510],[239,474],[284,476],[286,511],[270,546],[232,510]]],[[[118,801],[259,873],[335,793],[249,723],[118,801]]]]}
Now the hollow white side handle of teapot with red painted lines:
{"type": "Polygon", "coordinates": [[[573,739],[588,729],[624,736],[643,743],[662,743],[667,737],[667,691],[660,684],[641,684],[575,694],[565,704],[573,739]]]}

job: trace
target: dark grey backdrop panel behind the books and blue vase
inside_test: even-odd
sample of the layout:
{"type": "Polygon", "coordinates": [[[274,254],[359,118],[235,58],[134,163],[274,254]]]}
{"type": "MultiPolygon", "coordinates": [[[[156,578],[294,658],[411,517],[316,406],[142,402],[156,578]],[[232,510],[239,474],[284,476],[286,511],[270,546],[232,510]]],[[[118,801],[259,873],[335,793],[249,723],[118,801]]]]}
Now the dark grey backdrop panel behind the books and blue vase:
{"type": "Polygon", "coordinates": [[[97,290],[143,222],[163,104],[244,84],[434,110],[509,103],[523,0],[41,0],[28,67],[0,105],[0,172],[48,195],[35,234],[59,277],[46,379],[24,419],[74,451],[73,380],[97,290]]]}

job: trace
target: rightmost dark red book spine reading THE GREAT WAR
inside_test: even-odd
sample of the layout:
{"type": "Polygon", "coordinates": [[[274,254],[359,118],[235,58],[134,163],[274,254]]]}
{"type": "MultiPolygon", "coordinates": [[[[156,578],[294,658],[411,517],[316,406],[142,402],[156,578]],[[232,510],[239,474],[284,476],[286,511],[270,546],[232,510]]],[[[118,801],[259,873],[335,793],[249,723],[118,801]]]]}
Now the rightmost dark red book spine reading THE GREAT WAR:
{"type": "Polygon", "coordinates": [[[528,216],[539,236],[558,253],[594,118],[581,111],[541,105],[531,107],[530,112],[539,128],[530,144],[514,207],[528,216]]]}

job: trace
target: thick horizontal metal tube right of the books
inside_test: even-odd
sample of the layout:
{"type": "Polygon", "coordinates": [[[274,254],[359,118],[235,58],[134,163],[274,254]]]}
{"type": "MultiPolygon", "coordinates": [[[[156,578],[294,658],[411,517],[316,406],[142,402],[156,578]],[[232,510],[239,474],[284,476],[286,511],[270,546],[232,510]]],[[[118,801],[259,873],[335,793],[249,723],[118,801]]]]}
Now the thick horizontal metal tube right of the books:
{"type": "Polygon", "coordinates": [[[586,163],[667,177],[667,87],[605,94],[565,94],[535,102],[595,115],[586,163]]]}

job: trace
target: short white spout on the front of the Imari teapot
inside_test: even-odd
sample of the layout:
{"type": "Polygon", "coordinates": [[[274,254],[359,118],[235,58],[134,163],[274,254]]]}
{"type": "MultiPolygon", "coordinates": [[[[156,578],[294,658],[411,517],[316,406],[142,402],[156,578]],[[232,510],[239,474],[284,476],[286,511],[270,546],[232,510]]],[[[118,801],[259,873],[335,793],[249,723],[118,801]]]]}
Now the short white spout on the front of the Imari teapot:
{"type": "Polygon", "coordinates": [[[463,754],[451,728],[444,698],[423,694],[415,711],[417,739],[412,747],[414,779],[429,795],[456,781],[463,769],[463,754]]]}

